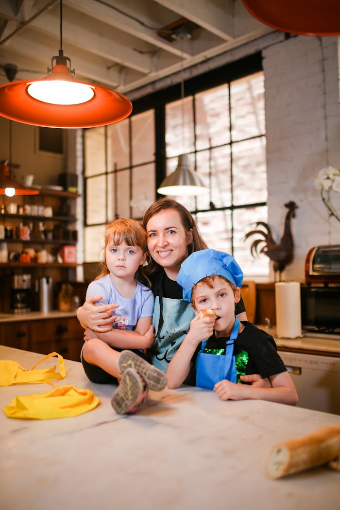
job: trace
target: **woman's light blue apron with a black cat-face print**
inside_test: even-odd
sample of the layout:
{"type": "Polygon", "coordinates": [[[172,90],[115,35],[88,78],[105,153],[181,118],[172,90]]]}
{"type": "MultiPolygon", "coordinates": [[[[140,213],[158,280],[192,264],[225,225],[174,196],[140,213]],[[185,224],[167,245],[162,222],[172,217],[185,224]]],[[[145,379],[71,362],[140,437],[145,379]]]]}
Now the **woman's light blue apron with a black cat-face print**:
{"type": "Polygon", "coordinates": [[[156,296],[152,323],[155,328],[155,340],[147,350],[149,361],[156,368],[166,372],[170,361],[187,335],[195,313],[190,303],[183,299],[170,299],[156,296]],[[161,310],[162,308],[162,310],[161,310]]]}

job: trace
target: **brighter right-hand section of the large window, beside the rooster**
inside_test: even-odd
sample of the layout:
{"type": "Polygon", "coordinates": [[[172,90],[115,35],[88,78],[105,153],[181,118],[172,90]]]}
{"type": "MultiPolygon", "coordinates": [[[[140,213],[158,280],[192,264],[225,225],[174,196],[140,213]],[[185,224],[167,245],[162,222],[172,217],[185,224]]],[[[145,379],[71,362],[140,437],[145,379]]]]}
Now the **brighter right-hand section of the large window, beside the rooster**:
{"type": "Polygon", "coordinates": [[[253,259],[244,242],[251,223],[267,219],[263,72],[168,103],[167,174],[182,152],[210,193],[176,199],[194,214],[208,246],[232,253],[248,276],[268,274],[268,260],[253,259]]]}

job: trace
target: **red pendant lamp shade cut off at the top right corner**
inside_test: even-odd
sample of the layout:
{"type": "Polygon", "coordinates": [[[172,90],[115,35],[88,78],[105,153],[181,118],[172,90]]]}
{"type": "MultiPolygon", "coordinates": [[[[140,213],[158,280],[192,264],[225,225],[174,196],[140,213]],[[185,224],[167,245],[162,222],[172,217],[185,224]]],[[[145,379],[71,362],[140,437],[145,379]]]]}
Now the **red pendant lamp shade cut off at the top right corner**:
{"type": "Polygon", "coordinates": [[[339,0],[242,0],[256,19],[298,35],[340,35],[339,0]]]}

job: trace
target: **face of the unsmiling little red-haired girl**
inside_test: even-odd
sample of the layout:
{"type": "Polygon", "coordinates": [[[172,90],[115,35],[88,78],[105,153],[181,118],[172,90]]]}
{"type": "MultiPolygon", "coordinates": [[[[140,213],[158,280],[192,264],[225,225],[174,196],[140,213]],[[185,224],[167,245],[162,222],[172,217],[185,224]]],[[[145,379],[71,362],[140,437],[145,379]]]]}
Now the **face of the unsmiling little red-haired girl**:
{"type": "Polygon", "coordinates": [[[134,278],[139,266],[144,264],[146,253],[139,246],[128,246],[125,242],[116,246],[109,243],[105,257],[111,278],[134,278]]]}

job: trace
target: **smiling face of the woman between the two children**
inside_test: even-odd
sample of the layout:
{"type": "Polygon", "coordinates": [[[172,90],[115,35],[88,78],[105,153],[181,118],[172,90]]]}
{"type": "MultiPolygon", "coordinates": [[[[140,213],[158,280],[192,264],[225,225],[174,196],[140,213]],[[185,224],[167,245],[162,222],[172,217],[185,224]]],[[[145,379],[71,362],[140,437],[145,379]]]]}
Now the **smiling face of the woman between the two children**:
{"type": "Polygon", "coordinates": [[[188,257],[188,245],[193,240],[192,230],[185,230],[176,209],[165,209],[149,219],[146,233],[152,259],[164,267],[170,279],[175,280],[181,263],[188,257]]]}

